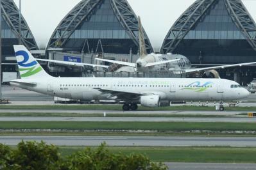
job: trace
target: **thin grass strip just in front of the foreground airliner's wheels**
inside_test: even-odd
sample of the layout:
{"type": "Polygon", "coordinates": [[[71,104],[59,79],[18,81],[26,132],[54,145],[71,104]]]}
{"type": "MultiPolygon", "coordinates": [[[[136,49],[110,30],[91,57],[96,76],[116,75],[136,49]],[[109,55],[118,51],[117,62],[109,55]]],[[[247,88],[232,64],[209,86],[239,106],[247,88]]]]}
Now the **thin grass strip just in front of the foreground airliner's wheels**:
{"type": "MultiPolygon", "coordinates": [[[[0,117],[104,117],[100,113],[58,113],[58,112],[0,112],[0,117]]],[[[227,118],[222,115],[203,114],[115,114],[108,113],[107,117],[148,117],[148,118],[227,118]]]]}

